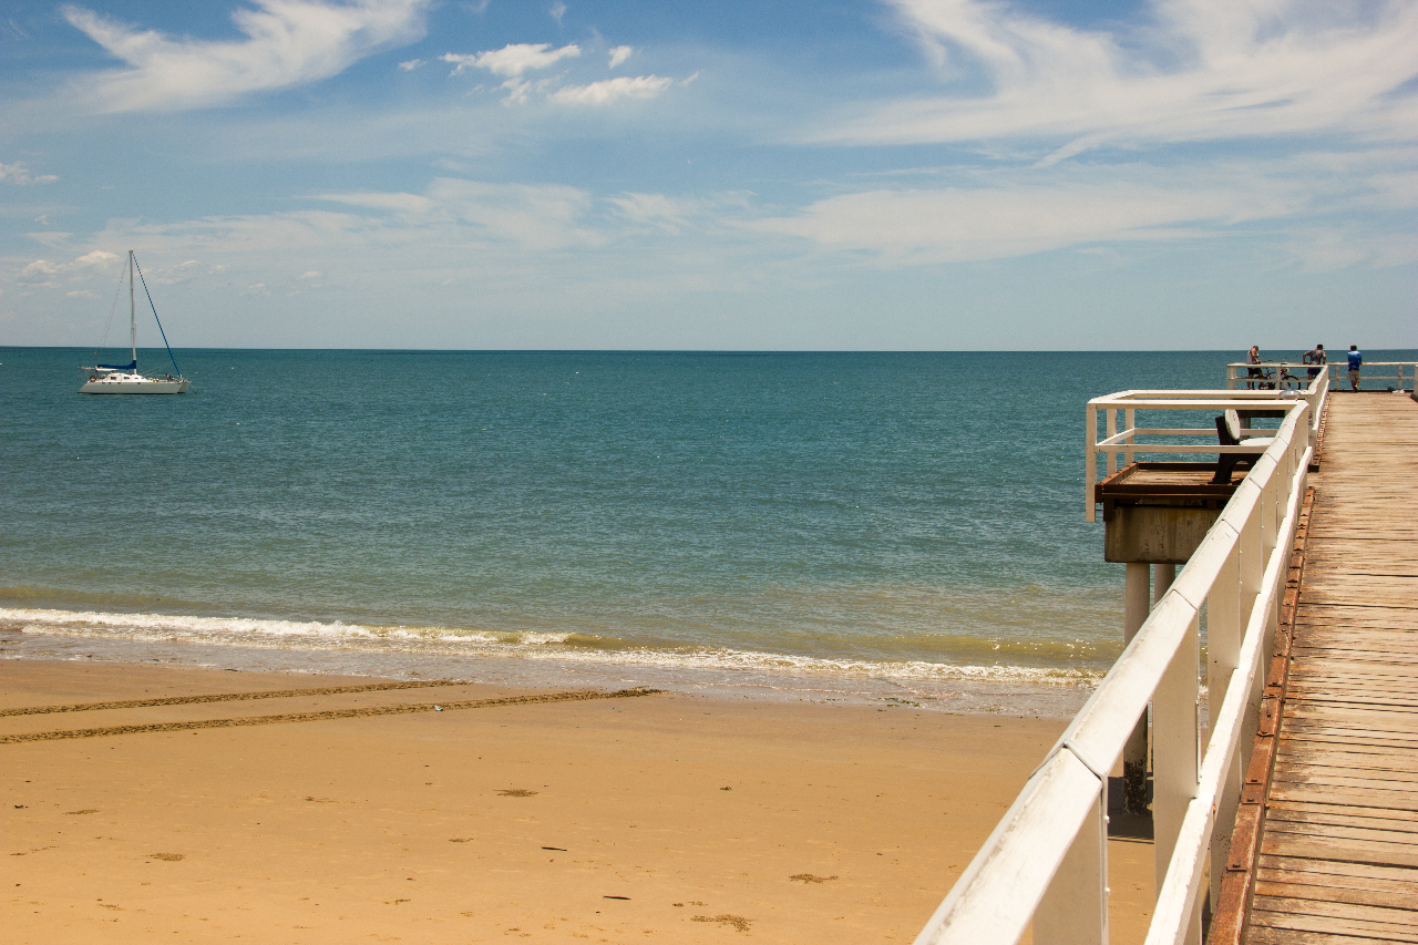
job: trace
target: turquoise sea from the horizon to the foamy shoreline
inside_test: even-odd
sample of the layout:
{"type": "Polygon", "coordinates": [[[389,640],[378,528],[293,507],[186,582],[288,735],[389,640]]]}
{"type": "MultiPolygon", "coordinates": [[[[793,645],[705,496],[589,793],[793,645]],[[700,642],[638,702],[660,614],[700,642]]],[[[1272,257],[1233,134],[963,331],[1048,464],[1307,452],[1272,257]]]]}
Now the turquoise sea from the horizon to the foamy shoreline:
{"type": "Polygon", "coordinates": [[[1082,521],[1083,404],[1232,358],[179,350],[187,394],[85,397],[92,352],[0,349],[0,648],[1086,685],[1122,573],[1082,521]]]}

